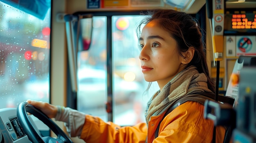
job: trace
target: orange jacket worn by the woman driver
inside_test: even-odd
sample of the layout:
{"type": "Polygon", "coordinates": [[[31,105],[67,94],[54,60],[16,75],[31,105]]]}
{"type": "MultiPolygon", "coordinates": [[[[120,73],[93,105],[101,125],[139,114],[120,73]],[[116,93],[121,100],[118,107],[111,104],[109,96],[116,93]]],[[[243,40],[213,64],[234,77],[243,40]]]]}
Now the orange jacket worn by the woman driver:
{"type": "MultiPolygon", "coordinates": [[[[204,106],[188,101],[175,108],[161,122],[159,135],[155,138],[157,125],[164,116],[150,118],[146,123],[120,127],[104,122],[98,117],[86,115],[80,138],[86,143],[211,143],[213,121],[204,119],[204,106]]],[[[225,129],[217,127],[216,143],[222,143],[225,129]]]]}

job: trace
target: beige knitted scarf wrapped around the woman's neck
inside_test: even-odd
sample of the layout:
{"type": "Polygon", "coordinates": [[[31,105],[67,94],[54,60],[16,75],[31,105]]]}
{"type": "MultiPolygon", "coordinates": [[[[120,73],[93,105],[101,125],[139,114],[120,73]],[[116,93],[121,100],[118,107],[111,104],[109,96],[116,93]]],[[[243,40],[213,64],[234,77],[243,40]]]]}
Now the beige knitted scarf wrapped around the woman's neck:
{"type": "Polygon", "coordinates": [[[204,73],[198,73],[195,66],[182,70],[164,86],[162,91],[157,91],[148,101],[145,112],[146,122],[150,121],[151,116],[159,115],[175,99],[199,92],[211,92],[204,73]]]}

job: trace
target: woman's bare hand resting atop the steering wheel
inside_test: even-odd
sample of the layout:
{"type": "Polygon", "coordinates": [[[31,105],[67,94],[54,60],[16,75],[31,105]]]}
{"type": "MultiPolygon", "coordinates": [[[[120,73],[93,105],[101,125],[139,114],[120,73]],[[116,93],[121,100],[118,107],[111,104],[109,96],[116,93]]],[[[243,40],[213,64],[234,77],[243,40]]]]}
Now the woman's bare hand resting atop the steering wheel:
{"type": "Polygon", "coordinates": [[[45,113],[49,118],[55,118],[57,114],[57,107],[49,104],[47,102],[35,101],[35,100],[27,100],[27,103],[35,106],[40,109],[43,113],[45,113]]]}

